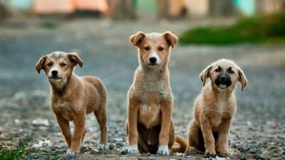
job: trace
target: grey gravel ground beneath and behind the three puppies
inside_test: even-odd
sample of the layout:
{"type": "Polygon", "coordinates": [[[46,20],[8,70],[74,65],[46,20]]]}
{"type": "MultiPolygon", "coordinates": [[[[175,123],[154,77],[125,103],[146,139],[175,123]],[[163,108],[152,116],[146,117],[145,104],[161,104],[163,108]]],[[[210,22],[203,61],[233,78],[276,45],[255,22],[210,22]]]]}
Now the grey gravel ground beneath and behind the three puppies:
{"type": "MultiPolygon", "coordinates": [[[[232,23],[232,20],[227,20],[232,23]]],[[[207,159],[204,155],[119,155],[126,145],[126,93],[138,66],[137,50],[128,37],[137,31],[180,34],[207,21],[117,21],[11,19],[0,26],[0,144],[6,148],[28,142],[29,159],[51,159],[66,152],[66,142],[49,106],[49,84],[34,65],[55,50],[76,51],[84,61],[78,75],[96,75],[108,89],[108,151],[96,150],[100,132],[88,115],[82,154],[73,159],[207,159]],[[53,27],[50,27],[52,24],[53,27]]],[[[170,74],[177,135],[187,137],[192,103],[202,83],[199,73],[214,60],[229,58],[242,67],[249,85],[236,90],[237,114],[229,136],[233,159],[285,159],[285,46],[177,46],[170,74]]],[[[64,156],[62,159],[70,159],[64,156]]],[[[217,158],[218,159],[218,158],[217,158]]]]}

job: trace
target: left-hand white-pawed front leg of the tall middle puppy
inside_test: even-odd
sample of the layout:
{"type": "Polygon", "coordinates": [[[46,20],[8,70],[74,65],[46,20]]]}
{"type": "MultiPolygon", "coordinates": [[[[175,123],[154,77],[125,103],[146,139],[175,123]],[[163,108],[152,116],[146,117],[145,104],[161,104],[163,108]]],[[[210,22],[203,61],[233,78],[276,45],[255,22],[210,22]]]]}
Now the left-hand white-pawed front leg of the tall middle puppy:
{"type": "Polygon", "coordinates": [[[139,154],[138,151],[138,105],[139,102],[130,100],[128,104],[128,154],[139,154]]]}

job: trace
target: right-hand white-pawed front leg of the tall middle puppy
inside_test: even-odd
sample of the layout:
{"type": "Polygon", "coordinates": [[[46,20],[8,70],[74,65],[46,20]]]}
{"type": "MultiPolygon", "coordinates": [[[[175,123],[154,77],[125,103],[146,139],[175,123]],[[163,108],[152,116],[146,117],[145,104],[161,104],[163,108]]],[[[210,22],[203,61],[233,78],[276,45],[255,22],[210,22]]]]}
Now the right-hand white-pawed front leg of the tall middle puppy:
{"type": "Polygon", "coordinates": [[[169,135],[170,135],[170,124],[171,124],[171,114],[173,102],[172,99],[164,100],[160,102],[162,119],[161,119],[161,130],[159,137],[159,148],[157,154],[169,155],[170,151],[168,149],[169,135]]]}

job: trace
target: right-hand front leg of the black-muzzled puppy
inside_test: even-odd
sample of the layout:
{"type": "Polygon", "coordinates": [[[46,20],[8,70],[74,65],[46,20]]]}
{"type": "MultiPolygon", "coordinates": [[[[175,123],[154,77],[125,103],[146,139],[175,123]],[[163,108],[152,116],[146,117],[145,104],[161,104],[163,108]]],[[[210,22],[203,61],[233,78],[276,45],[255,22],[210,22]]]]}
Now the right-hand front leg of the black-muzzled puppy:
{"type": "Polygon", "coordinates": [[[223,119],[222,124],[219,129],[218,136],[218,145],[219,145],[219,154],[222,156],[230,157],[229,149],[228,149],[228,137],[229,137],[229,127],[231,125],[231,119],[223,119]]]}

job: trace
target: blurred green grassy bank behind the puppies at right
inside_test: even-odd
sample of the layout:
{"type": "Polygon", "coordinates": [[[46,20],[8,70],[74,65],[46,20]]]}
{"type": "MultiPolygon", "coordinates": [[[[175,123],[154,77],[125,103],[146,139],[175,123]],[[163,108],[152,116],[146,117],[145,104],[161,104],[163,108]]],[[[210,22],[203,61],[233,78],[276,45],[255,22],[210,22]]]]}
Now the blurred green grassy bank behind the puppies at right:
{"type": "Polygon", "coordinates": [[[185,31],[182,44],[229,45],[234,43],[274,43],[285,41],[285,12],[244,18],[231,26],[204,26],[185,31]]]}

